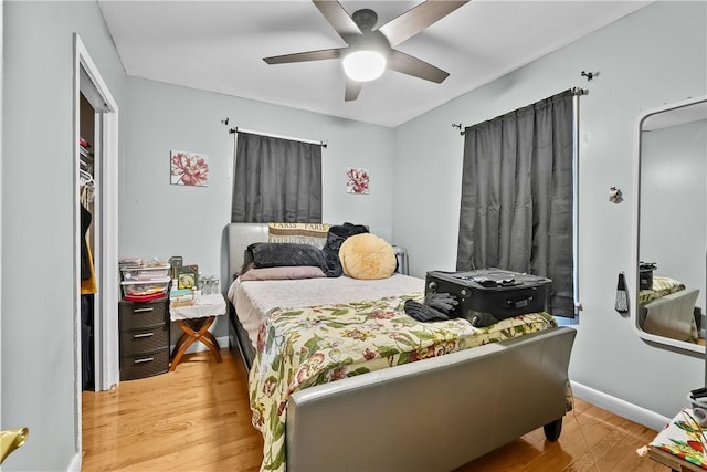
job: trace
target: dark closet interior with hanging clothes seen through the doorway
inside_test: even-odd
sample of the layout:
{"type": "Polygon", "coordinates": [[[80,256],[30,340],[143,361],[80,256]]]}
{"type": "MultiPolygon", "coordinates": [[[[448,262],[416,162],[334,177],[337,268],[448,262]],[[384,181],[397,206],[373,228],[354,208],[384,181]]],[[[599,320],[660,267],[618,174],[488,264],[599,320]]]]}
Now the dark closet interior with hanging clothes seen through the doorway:
{"type": "Polygon", "coordinates": [[[95,335],[94,316],[96,307],[96,275],[94,270],[95,248],[95,212],[94,197],[96,192],[95,176],[95,112],[88,101],[81,95],[80,99],[80,170],[78,182],[78,237],[81,248],[81,356],[82,388],[93,390],[95,387],[95,335]]]}

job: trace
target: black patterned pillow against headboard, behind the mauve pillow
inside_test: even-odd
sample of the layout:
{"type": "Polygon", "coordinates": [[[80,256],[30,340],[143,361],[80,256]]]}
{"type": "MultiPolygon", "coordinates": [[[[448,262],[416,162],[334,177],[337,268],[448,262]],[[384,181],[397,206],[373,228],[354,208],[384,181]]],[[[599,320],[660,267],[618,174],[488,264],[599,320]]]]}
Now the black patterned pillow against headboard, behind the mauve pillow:
{"type": "Polygon", "coordinates": [[[256,242],[247,247],[254,268],[309,265],[326,272],[324,254],[317,247],[287,242],[256,242]]]}

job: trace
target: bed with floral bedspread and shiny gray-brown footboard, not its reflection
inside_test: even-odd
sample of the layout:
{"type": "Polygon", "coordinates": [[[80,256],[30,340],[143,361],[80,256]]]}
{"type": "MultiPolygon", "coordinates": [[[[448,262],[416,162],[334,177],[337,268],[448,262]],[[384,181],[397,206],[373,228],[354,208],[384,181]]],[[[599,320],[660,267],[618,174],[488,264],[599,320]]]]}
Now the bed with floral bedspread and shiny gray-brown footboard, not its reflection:
{"type": "MultiPolygon", "coordinates": [[[[231,223],[228,238],[230,272],[235,273],[247,245],[268,240],[267,225],[231,223]]],[[[404,315],[401,304],[422,295],[422,280],[395,274],[357,284],[363,296],[356,290],[341,295],[347,277],[340,279],[235,281],[229,290],[230,345],[240,349],[251,371],[254,423],[262,426],[263,417],[275,407],[279,418],[268,423],[274,428],[265,428],[262,470],[449,471],[536,428],[544,427],[551,440],[559,437],[562,418],[571,408],[568,365],[574,329],[558,327],[547,314],[531,314],[498,324],[484,333],[485,338],[476,336],[472,342],[471,324],[465,321],[422,324],[404,315]],[[339,297],[321,296],[325,291],[318,283],[337,286],[334,292],[339,297]],[[263,302],[263,294],[279,290],[275,286],[287,286],[284,291],[294,292],[297,301],[263,302]],[[250,310],[267,316],[257,322],[245,314],[250,310]],[[374,318],[376,326],[391,329],[389,335],[392,329],[412,329],[418,338],[408,344],[433,340],[401,349],[390,358],[367,348],[360,363],[318,371],[302,368],[310,366],[309,357],[295,370],[297,363],[281,363],[279,352],[272,349],[282,343],[285,353],[303,353],[313,333],[321,336],[335,328],[347,329],[333,322],[347,312],[363,323],[374,318]],[[530,319],[527,326],[532,329],[520,326],[521,318],[530,319]],[[287,332],[288,326],[296,329],[287,332]],[[525,331],[535,332],[520,336],[525,331]],[[452,332],[455,336],[444,337],[452,332]],[[252,339],[260,339],[260,345],[252,339]],[[468,348],[472,343],[479,346],[468,348]],[[282,367],[285,363],[292,370],[282,367]],[[303,378],[295,374],[282,387],[273,365],[278,371],[313,374],[303,378]],[[321,382],[325,380],[336,381],[321,382]],[[285,390],[276,397],[279,403],[261,405],[255,398],[257,391],[279,389],[285,390]]],[[[329,350],[317,355],[329,360],[344,349],[342,340],[354,338],[356,335],[326,338],[329,350]]],[[[388,349],[384,344],[374,345],[388,349]]]]}

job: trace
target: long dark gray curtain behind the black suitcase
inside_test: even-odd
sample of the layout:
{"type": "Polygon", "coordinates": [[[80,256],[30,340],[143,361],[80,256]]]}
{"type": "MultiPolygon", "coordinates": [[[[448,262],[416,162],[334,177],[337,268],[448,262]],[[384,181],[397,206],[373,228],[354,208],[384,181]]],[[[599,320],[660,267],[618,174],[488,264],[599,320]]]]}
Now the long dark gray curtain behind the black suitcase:
{"type": "Polygon", "coordinates": [[[465,128],[456,270],[552,280],[548,311],[574,316],[572,92],[465,128]]]}

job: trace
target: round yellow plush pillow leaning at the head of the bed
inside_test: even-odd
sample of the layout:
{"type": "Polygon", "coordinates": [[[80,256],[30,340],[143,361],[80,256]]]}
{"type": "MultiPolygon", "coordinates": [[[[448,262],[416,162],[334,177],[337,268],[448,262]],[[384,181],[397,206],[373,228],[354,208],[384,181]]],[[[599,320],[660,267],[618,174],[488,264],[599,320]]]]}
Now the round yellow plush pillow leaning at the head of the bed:
{"type": "Polygon", "coordinates": [[[344,273],[352,279],[388,279],[395,272],[393,247],[371,233],[349,237],[341,243],[339,259],[344,273]]]}

